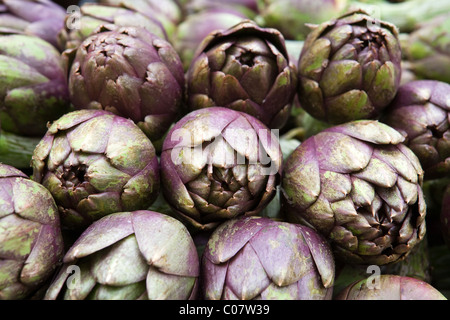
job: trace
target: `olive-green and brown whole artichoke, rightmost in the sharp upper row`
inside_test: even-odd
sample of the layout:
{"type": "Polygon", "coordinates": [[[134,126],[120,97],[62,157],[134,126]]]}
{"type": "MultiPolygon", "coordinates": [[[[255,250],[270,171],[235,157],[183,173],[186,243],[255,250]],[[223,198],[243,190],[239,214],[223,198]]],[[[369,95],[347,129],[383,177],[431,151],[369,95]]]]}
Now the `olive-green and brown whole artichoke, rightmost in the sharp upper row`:
{"type": "Polygon", "coordinates": [[[401,48],[394,25],[362,11],[315,27],[298,63],[298,98],[316,119],[340,124],[375,119],[401,80],[401,48]]]}

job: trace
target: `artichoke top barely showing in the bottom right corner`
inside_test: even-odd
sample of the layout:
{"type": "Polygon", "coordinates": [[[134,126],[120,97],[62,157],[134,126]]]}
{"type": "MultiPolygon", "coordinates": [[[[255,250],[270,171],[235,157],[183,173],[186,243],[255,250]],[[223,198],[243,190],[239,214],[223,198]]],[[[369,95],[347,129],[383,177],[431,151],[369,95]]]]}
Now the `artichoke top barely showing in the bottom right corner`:
{"type": "Polygon", "coordinates": [[[429,283],[397,275],[356,281],[343,289],[335,300],[447,300],[429,283]]]}

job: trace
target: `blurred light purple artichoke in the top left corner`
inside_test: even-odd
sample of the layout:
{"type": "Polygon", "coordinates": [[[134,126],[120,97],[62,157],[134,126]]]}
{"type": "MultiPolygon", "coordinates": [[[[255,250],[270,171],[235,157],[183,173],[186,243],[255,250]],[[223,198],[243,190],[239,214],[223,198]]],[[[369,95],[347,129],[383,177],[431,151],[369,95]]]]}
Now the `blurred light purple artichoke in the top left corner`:
{"type": "Polygon", "coordinates": [[[0,0],[0,33],[37,36],[62,50],[66,11],[51,0],[0,0]]]}

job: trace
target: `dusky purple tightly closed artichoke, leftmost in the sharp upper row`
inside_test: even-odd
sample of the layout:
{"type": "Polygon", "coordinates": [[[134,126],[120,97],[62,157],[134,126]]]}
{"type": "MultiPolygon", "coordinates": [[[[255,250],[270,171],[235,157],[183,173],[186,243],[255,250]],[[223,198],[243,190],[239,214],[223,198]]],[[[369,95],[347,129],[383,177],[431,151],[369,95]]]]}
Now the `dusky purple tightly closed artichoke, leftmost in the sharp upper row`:
{"type": "Polygon", "coordinates": [[[170,43],[143,28],[105,26],[77,49],[69,91],[77,109],[132,119],[152,141],[180,116],[184,70],[170,43]]]}

